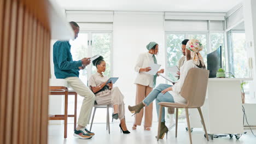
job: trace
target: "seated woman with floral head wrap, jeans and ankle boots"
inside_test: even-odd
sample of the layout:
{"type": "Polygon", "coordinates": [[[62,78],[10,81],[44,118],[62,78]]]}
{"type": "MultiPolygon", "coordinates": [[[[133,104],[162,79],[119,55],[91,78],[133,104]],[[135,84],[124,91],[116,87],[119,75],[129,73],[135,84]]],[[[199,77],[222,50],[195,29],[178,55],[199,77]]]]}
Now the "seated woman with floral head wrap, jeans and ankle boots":
{"type": "MultiPolygon", "coordinates": [[[[188,74],[188,71],[191,68],[202,68],[205,69],[205,63],[203,62],[203,58],[200,55],[200,51],[203,49],[202,44],[199,40],[191,39],[188,41],[186,45],[186,57],[187,61],[181,67],[181,76],[180,79],[175,83],[174,86],[167,84],[160,84],[158,87],[153,89],[152,92],[148,94],[141,103],[135,106],[129,106],[128,109],[131,112],[138,113],[144,106],[148,106],[154,100],[156,100],[156,112],[159,115],[159,105],[160,102],[170,102],[170,103],[181,103],[186,104],[187,100],[185,100],[181,95],[181,89],[185,78],[188,74]]],[[[161,127],[160,127],[160,139],[164,137],[165,134],[168,133],[168,128],[165,125],[165,109],[162,109],[162,117],[161,117],[161,127]]]]}

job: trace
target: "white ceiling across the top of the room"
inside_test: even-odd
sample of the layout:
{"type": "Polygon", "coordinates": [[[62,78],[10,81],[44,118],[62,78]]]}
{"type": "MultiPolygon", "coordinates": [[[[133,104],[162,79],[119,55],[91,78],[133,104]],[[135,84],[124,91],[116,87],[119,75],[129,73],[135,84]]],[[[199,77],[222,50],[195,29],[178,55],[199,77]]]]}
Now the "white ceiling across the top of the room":
{"type": "Polygon", "coordinates": [[[66,10],[181,11],[226,13],[242,0],[51,0],[66,10]]]}

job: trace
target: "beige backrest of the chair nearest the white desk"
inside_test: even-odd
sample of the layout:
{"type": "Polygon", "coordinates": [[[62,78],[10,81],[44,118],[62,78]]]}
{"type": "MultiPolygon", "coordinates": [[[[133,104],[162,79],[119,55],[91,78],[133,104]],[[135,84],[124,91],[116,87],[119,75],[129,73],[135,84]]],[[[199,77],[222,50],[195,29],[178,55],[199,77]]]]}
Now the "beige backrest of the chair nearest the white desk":
{"type": "Polygon", "coordinates": [[[201,107],[205,103],[209,70],[192,68],[182,86],[181,95],[187,107],[201,107]]]}

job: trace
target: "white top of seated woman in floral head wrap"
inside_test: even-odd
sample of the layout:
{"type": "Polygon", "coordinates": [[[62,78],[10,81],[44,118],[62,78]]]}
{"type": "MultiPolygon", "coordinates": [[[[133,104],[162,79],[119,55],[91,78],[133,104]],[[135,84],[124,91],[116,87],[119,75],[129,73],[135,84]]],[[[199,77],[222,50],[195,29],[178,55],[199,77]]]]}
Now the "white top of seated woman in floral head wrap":
{"type": "Polygon", "coordinates": [[[175,103],[182,103],[182,104],[187,103],[187,100],[181,96],[181,89],[187,77],[188,71],[191,68],[198,68],[198,67],[193,63],[193,60],[191,59],[189,61],[185,61],[185,63],[181,67],[181,76],[179,80],[172,87],[172,91],[168,91],[172,95],[175,103]]]}

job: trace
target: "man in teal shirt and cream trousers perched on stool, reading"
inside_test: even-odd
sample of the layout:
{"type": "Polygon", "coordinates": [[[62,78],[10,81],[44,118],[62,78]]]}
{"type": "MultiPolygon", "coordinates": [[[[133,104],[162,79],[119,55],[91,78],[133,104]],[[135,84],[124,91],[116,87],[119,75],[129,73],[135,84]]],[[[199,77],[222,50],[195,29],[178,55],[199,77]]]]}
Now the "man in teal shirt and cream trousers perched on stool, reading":
{"type": "MultiPolygon", "coordinates": [[[[76,22],[69,22],[75,33],[75,39],[78,37],[79,26],[76,22]]],[[[69,41],[56,41],[53,46],[54,74],[57,79],[65,79],[68,84],[79,95],[84,97],[83,104],[78,118],[78,126],[74,131],[74,136],[80,139],[91,139],[94,133],[91,133],[86,125],[89,123],[91,109],[94,106],[95,95],[79,79],[79,70],[84,69],[90,64],[90,58],[83,58],[79,61],[73,61],[71,55],[71,45],[69,41]]]]}

